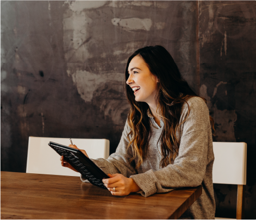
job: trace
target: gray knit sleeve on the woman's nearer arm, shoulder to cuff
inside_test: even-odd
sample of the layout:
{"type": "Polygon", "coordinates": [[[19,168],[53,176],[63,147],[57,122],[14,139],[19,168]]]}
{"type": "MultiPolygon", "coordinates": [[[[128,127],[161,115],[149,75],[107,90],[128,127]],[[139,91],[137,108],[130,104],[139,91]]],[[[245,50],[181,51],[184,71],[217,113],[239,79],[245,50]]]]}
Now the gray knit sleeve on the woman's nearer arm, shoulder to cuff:
{"type": "MultiPolygon", "coordinates": [[[[210,128],[209,110],[201,98],[188,101],[190,114],[181,125],[180,146],[173,164],[158,171],[149,171],[132,175],[142,191],[142,196],[168,192],[177,187],[195,187],[202,184],[208,164],[208,134],[210,128]]],[[[180,121],[188,114],[188,106],[183,105],[180,121]]]]}

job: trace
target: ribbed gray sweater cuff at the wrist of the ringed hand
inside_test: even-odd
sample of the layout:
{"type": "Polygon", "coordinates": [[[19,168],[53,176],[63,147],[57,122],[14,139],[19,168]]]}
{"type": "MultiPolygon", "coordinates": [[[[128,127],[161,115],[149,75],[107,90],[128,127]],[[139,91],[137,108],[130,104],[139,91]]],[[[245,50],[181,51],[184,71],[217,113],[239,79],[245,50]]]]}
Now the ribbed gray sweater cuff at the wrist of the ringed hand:
{"type": "Polygon", "coordinates": [[[152,194],[157,192],[157,187],[155,187],[154,181],[149,178],[147,173],[141,173],[136,175],[131,175],[135,183],[141,188],[140,193],[143,197],[151,196],[152,194]]]}

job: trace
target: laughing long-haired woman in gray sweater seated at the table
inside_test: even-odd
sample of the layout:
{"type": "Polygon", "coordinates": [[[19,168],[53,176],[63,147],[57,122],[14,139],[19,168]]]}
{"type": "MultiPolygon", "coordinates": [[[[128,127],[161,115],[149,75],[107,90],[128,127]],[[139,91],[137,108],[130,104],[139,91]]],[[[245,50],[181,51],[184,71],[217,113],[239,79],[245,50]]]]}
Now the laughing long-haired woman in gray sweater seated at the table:
{"type": "MultiPolygon", "coordinates": [[[[145,197],[202,185],[201,197],[179,219],[214,219],[213,120],[205,99],[190,89],[161,46],[135,51],[125,74],[130,111],[121,141],[107,160],[93,160],[109,173],[103,183],[113,195],[145,197]]],[[[64,158],[61,165],[76,171],[64,158]]]]}

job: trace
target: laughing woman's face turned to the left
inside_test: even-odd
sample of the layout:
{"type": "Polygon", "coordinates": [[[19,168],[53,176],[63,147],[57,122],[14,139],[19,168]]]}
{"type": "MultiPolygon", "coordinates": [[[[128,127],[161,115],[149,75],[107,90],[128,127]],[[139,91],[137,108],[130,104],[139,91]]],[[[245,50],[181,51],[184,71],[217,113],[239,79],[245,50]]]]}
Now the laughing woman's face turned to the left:
{"type": "Polygon", "coordinates": [[[134,92],[137,102],[155,104],[157,77],[154,76],[140,56],[134,56],[128,67],[129,78],[126,83],[134,92]]]}

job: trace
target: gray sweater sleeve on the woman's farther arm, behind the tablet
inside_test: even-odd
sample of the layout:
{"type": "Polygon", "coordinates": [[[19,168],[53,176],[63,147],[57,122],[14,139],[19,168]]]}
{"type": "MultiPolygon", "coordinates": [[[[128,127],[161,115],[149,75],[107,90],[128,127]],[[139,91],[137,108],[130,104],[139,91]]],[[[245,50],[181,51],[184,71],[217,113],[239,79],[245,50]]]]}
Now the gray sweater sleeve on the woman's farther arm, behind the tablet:
{"type": "MultiPolygon", "coordinates": [[[[133,157],[132,148],[129,147],[127,149],[129,143],[127,135],[129,131],[130,128],[128,123],[126,122],[120,143],[116,148],[116,152],[111,154],[107,160],[103,158],[98,158],[96,160],[91,159],[99,168],[102,169],[103,172],[107,174],[121,173],[124,175],[124,177],[129,177],[130,175],[138,173],[134,168],[134,163],[132,162],[132,164],[130,164],[129,162],[129,159],[133,157]]],[[[81,180],[83,182],[88,182],[84,175],[81,175],[81,180]]]]}

